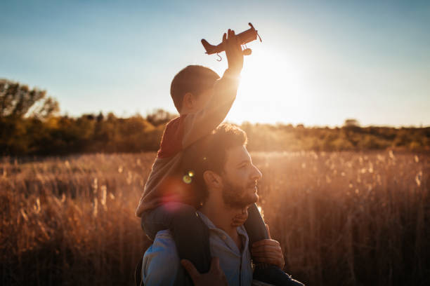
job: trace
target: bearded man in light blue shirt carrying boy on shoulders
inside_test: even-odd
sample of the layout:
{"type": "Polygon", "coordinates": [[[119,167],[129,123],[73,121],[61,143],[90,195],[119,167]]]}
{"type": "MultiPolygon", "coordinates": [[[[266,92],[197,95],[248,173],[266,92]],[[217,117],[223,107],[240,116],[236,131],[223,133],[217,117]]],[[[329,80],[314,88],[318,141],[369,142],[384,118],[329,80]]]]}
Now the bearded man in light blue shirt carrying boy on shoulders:
{"type": "MultiPolygon", "coordinates": [[[[189,261],[182,261],[195,285],[208,285],[208,282],[252,285],[247,232],[244,226],[231,225],[237,213],[246,211],[259,198],[256,184],[261,172],[252,164],[246,142],[244,131],[223,124],[190,147],[184,156],[184,182],[193,184],[199,192],[202,204],[197,215],[209,228],[211,255],[217,257],[206,274],[197,273],[189,261]]],[[[169,203],[165,205],[169,209],[169,203]]],[[[261,240],[252,245],[251,250],[256,263],[284,266],[282,250],[275,240],[261,240]]],[[[145,252],[142,274],[145,285],[175,285],[184,280],[185,271],[168,230],[159,231],[145,252]]],[[[289,285],[301,283],[291,280],[289,285]]]]}

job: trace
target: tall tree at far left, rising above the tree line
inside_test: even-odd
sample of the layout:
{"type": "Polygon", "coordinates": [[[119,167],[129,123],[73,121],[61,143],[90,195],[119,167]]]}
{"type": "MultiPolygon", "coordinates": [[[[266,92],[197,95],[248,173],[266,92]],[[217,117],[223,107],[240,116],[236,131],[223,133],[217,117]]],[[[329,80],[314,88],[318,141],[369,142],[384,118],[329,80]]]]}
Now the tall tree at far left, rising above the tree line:
{"type": "Polygon", "coordinates": [[[0,118],[48,118],[59,111],[58,102],[46,90],[0,79],[0,118]]]}

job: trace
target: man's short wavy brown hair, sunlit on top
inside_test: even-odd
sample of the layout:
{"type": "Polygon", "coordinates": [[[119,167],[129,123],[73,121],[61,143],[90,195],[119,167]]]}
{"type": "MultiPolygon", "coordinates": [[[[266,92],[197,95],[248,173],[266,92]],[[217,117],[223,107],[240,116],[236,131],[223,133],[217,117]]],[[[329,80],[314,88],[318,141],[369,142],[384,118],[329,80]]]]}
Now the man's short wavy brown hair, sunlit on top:
{"type": "Polygon", "coordinates": [[[210,135],[185,149],[183,170],[190,178],[198,201],[204,202],[209,195],[203,173],[211,170],[221,175],[226,165],[227,151],[247,145],[247,133],[235,125],[223,123],[210,135]]]}

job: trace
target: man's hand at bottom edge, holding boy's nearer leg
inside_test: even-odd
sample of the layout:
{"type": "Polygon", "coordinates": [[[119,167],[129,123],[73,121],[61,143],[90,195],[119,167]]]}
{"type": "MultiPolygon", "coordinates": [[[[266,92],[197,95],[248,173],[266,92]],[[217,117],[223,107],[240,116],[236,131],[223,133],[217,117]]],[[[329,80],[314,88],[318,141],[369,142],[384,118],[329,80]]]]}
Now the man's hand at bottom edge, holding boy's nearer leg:
{"type": "Polygon", "coordinates": [[[214,257],[208,273],[200,274],[187,259],[181,260],[182,266],[190,274],[195,286],[228,286],[226,275],[219,268],[219,258],[214,257]]]}

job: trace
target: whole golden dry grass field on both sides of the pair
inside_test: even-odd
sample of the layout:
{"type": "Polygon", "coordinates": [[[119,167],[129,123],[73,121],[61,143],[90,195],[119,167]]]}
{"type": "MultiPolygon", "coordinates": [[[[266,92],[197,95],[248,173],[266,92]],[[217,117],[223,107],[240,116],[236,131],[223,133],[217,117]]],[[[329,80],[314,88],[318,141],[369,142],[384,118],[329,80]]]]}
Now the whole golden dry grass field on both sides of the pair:
{"type": "MultiPolygon", "coordinates": [[[[429,285],[429,154],[254,153],[286,270],[307,285],[429,285]]],[[[155,154],[0,163],[1,285],[132,285],[155,154]]]]}

